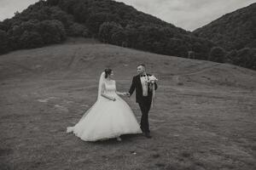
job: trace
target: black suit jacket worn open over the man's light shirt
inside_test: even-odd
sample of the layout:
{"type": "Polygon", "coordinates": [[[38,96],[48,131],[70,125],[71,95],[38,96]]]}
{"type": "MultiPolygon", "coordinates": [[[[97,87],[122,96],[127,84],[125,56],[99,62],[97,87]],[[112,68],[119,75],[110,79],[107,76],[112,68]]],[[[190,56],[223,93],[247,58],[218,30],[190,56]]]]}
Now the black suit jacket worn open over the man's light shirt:
{"type": "MultiPolygon", "coordinates": [[[[147,76],[151,76],[150,74],[147,74],[147,76]]],[[[157,89],[157,84],[154,83],[154,89],[157,89]]],[[[143,96],[143,86],[142,86],[142,82],[141,82],[141,77],[140,75],[137,75],[135,77],[132,78],[132,83],[131,83],[131,88],[129,90],[129,94],[133,94],[134,90],[136,90],[136,102],[140,103],[143,101],[143,99],[148,98],[148,99],[152,99],[152,91],[149,90],[148,88],[148,96],[144,97],[143,96]]]]}

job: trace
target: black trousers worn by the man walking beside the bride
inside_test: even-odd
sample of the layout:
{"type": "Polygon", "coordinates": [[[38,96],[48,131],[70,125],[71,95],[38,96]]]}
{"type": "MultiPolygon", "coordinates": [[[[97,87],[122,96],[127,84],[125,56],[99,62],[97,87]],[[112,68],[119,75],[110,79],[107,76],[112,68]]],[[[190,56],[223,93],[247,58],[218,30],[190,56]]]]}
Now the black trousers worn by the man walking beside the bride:
{"type": "Polygon", "coordinates": [[[141,118],[141,129],[143,133],[149,133],[149,124],[148,124],[148,112],[151,107],[151,98],[143,97],[143,99],[138,102],[140,109],[142,111],[142,118],[141,118]]]}

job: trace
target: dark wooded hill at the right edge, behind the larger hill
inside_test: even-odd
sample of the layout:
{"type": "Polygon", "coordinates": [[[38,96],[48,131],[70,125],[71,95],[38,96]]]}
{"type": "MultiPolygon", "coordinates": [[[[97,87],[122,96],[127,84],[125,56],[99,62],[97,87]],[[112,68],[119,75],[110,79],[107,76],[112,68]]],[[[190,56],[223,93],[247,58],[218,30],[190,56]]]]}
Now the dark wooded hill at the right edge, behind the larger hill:
{"type": "Polygon", "coordinates": [[[193,33],[217,44],[226,62],[256,70],[256,3],[224,14],[193,33]]]}

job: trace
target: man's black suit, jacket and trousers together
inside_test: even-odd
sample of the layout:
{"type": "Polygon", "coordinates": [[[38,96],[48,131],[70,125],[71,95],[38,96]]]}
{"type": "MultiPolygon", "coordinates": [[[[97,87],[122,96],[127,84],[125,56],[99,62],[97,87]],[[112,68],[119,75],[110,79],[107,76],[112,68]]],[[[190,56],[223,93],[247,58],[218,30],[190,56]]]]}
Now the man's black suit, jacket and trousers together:
{"type": "MultiPolygon", "coordinates": [[[[151,76],[151,75],[147,74],[147,76],[151,76]]],[[[143,96],[143,86],[142,86],[140,75],[133,77],[129,94],[130,95],[133,94],[135,89],[136,89],[136,102],[138,103],[142,111],[141,129],[143,133],[149,133],[148,111],[150,110],[153,93],[152,93],[152,90],[148,88],[148,96],[143,96]]],[[[156,83],[154,83],[154,89],[155,90],[157,89],[156,83]]]]}

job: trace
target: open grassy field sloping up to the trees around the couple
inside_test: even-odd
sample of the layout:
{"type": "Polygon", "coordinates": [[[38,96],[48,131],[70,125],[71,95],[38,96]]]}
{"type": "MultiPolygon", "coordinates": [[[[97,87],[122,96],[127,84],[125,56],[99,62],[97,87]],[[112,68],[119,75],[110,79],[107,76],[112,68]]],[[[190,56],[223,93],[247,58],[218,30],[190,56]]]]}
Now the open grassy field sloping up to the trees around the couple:
{"type": "MultiPolygon", "coordinates": [[[[74,39],[0,56],[0,166],[14,170],[256,169],[256,72],[74,39]],[[89,143],[66,133],[111,67],[128,91],[136,66],[160,79],[152,139],[89,143]]],[[[124,98],[140,120],[135,96],[124,98]]]]}

